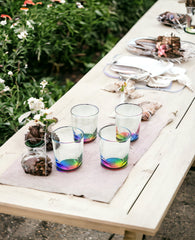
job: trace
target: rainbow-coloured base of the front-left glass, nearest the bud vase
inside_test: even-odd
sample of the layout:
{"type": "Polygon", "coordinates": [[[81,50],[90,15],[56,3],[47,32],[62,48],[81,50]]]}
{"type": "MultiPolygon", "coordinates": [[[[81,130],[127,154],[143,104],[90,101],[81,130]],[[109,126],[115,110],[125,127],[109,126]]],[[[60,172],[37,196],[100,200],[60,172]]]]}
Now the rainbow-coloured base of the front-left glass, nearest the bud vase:
{"type": "Polygon", "coordinates": [[[56,169],[60,172],[72,171],[80,167],[82,164],[82,154],[78,159],[65,159],[58,161],[56,159],[56,169]]]}

